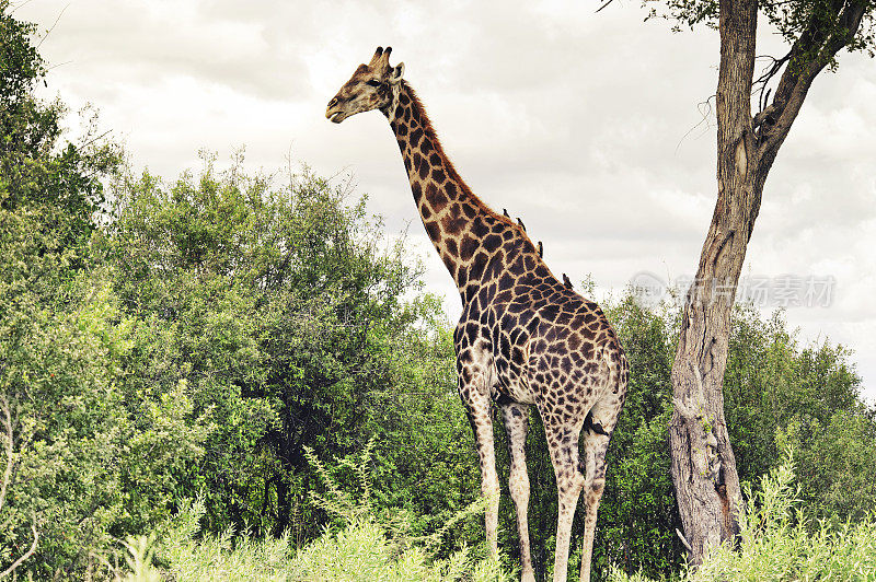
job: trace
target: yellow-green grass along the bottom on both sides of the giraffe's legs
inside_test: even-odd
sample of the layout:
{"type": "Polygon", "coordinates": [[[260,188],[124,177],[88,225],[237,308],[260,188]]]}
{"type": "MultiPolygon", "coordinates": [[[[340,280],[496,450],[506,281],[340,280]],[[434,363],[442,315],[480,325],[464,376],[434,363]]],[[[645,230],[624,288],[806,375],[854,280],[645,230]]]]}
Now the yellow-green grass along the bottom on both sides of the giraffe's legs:
{"type": "MultiPolygon", "coordinates": [[[[412,537],[399,520],[381,522],[368,500],[360,459],[344,459],[361,482],[358,494],[343,491],[319,459],[311,463],[326,484],[325,497],[313,502],[339,517],[321,537],[295,550],[286,537],[257,538],[222,535],[198,537],[201,501],[185,504],[150,538],[129,539],[129,582],[186,581],[504,581],[516,579],[484,556],[483,549],[462,548],[437,559],[433,548],[442,532],[412,537]],[[154,540],[154,542],[153,542],[154,540]]],[[[796,500],[794,465],[785,462],[761,479],[760,489],[746,488],[749,509],[740,515],[741,545],[713,551],[699,570],[680,573],[681,582],[750,581],[874,581],[876,582],[876,523],[833,526],[807,520],[796,500]]],[[[457,517],[477,512],[473,505],[457,517]]],[[[642,574],[608,572],[610,582],[652,582],[642,574]]]]}

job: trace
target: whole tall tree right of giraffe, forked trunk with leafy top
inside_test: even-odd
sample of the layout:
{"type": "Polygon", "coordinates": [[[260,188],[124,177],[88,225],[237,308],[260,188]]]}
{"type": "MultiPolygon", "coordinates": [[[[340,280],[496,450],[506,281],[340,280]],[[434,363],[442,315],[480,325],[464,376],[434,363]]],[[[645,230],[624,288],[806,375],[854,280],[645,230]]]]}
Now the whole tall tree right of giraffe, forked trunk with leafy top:
{"type": "Polygon", "coordinates": [[[704,23],[721,34],[718,194],[685,299],[669,426],[672,480],[693,564],[738,531],[735,516],[742,499],[722,382],[736,288],[763,185],[816,77],[834,69],[843,49],[873,55],[874,5],[869,0],[670,0],[652,9],[652,15],[690,26],[704,23]],[[756,79],[759,15],[789,49],[756,79]]]}

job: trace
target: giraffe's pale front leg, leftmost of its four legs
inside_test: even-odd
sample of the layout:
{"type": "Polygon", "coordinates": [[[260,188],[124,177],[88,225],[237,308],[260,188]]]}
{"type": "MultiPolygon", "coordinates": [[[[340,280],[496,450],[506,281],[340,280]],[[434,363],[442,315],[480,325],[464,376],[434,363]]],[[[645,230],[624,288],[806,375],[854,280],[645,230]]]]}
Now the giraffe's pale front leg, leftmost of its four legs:
{"type": "Polygon", "coordinates": [[[481,492],[486,498],[486,542],[492,556],[498,560],[499,548],[496,528],[499,519],[499,478],[496,474],[496,453],[493,444],[493,420],[489,397],[474,383],[463,385],[460,376],[460,396],[465,405],[469,421],[474,430],[474,442],[481,459],[481,492]]]}

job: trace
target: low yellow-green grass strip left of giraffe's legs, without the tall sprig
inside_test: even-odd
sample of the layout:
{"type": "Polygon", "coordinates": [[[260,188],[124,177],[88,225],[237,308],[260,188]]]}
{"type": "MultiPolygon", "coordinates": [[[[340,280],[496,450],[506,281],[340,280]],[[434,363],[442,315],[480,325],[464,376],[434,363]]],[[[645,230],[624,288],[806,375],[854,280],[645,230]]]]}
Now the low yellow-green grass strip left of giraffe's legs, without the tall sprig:
{"type": "Polygon", "coordinates": [[[295,551],[289,539],[219,536],[197,539],[204,513],[200,501],[174,519],[157,543],[129,539],[130,557],[124,580],[186,581],[504,581],[510,580],[497,562],[463,548],[445,560],[435,559],[428,545],[391,536],[371,517],[359,517],[337,531],[326,529],[316,540],[295,551]]]}

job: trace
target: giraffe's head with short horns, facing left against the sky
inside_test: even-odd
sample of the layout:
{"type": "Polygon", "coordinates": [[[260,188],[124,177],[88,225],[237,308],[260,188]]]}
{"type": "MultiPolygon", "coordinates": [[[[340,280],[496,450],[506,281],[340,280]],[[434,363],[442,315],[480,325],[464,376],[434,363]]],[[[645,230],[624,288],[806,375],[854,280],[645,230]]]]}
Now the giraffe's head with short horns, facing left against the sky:
{"type": "Polygon", "coordinates": [[[392,48],[377,47],[371,62],[359,65],[341,91],[328,102],[325,117],[339,124],[350,115],[371,109],[389,112],[404,74],[404,62],[390,67],[392,48]]]}

